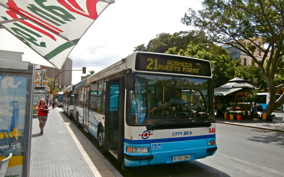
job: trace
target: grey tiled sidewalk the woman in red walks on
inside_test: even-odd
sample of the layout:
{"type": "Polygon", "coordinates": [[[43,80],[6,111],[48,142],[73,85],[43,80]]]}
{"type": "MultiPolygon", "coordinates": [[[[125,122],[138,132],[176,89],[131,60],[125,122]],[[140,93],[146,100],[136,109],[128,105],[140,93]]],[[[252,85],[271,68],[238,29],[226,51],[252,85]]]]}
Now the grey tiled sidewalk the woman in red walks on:
{"type": "Polygon", "coordinates": [[[50,109],[44,134],[34,115],[30,177],[121,177],[59,108],[50,109]]]}

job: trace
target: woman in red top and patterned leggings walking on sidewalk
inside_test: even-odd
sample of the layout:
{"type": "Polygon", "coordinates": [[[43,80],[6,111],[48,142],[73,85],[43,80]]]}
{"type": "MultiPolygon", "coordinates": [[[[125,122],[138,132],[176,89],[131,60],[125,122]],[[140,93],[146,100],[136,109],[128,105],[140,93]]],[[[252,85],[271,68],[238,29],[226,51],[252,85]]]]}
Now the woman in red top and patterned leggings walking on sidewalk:
{"type": "Polygon", "coordinates": [[[35,110],[38,110],[37,118],[38,118],[38,121],[39,121],[40,133],[43,133],[43,128],[45,126],[45,123],[46,123],[47,117],[48,117],[48,114],[45,113],[44,111],[49,111],[49,108],[46,105],[45,99],[39,100],[39,105],[35,108],[35,110]],[[43,108],[44,106],[46,106],[46,108],[43,108]]]}

